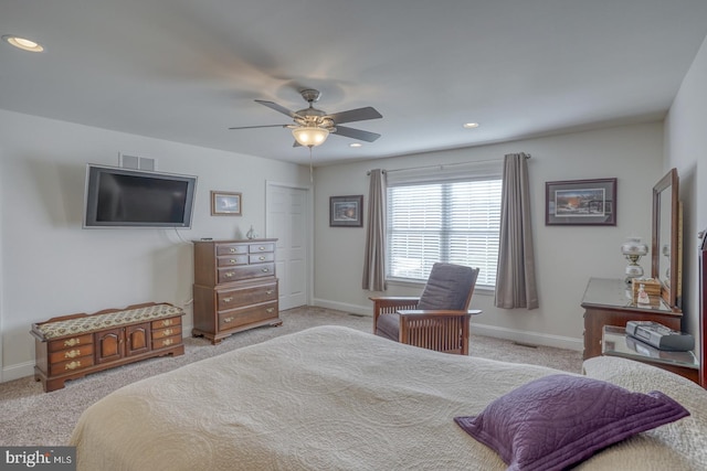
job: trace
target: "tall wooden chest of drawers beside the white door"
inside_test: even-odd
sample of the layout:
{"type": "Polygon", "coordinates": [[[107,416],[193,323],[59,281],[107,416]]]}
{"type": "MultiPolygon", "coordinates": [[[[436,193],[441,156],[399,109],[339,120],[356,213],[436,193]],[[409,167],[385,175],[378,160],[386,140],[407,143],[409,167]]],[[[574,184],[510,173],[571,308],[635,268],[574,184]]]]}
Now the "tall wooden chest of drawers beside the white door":
{"type": "Polygon", "coordinates": [[[277,239],[194,242],[194,336],[214,345],[261,325],[281,325],[277,239]]]}

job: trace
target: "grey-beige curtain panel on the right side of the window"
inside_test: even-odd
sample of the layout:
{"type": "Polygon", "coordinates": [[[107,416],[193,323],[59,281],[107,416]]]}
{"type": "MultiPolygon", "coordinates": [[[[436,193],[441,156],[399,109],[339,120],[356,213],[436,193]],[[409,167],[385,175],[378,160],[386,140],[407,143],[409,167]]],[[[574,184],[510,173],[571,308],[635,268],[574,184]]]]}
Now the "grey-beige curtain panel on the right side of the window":
{"type": "Polygon", "coordinates": [[[538,308],[530,221],[529,158],[521,152],[509,153],[504,160],[495,298],[497,308],[538,308]]]}

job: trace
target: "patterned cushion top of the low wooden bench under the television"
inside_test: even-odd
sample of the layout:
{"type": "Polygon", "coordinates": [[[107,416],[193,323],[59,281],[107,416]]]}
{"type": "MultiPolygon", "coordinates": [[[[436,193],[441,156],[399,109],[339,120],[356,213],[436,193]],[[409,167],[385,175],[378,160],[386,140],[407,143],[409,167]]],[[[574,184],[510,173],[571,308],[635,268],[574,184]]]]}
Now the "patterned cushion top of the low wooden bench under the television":
{"type": "Polygon", "coordinates": [[[66,319],[62,321],[46,322],[36,325],[44,339],[56,339],[65,335],[76,335],[94,332],[112,327],[119,327],[139,321],[154,321],[162,318],[183,315],[184,311],[171,304],[152,304],[125,311],[108,312],[105,314],[86,315],[83,318],[66,319]]]}

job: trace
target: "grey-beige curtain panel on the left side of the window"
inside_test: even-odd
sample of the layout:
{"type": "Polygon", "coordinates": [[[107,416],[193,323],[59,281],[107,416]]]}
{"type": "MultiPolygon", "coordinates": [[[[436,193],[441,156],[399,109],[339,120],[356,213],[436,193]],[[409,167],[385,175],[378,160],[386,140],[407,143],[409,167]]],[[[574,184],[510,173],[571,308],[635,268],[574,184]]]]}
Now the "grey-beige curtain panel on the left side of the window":
{"type": "Polygon", "coordinates": [[[386,290],[386,172],[371,170],[362,288],[386,290]]]}

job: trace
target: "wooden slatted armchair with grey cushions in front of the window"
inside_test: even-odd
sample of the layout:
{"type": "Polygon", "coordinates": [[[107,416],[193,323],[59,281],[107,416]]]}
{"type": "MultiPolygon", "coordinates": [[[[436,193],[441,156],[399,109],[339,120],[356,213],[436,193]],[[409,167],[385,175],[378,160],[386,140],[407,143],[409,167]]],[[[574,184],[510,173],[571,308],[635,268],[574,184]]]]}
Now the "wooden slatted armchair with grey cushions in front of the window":
{"type": "Polygon", "coordinates": [[[419,298],[373,297],[373,333],[387,339],[468,355],[468,310],[478,268],[434,264],[419,298]]]}

